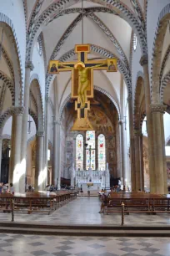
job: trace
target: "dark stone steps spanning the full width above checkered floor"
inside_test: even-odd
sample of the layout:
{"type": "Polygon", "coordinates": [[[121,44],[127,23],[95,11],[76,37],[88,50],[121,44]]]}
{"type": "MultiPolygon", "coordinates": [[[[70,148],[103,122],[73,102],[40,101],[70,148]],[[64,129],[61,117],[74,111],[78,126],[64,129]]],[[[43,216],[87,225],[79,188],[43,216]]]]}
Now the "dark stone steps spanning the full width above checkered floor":
{"type": "Polygon", "coordinates": [[[97,225],[47,225],[34,223],[0,223],[0,233],[109,237],[170,237],[170,227],[116,227],[97,225]]]}

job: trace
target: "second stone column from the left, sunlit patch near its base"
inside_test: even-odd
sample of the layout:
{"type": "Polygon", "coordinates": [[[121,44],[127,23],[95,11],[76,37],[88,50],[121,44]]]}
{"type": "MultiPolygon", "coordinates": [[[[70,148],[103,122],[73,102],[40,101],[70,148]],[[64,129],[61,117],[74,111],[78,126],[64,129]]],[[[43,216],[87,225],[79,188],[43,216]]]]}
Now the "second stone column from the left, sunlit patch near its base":
{"type": "Polygon", "coordinates": [[[42,131],[37,131],[36,136],[36,170],[35,170],[35,190],[42,191],[44,185],[44,172],[43,172],[43,137],[42,131]]]}

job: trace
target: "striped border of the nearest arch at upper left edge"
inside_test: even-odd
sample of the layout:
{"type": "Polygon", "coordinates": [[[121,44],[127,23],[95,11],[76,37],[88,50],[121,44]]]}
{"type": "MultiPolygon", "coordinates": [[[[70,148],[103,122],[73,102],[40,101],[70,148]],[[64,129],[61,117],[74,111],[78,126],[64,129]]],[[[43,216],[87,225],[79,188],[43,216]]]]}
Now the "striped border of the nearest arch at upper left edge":
{"type": "Polygon", "coordinates": [[[10,30],[13,33],[13,41],[15,44],[15,49],[16,49],[16,54],[17,54],[15,64],[13,65],[15,67],[14,75],[15,75],[15,79],[16,79],[16,77],[18,77],[18,80],[15,80],[15,84],[20,84],[20,86],[21,86],[20,95],[18,95],[18,97],[19,97],[18,104],[23,105],[23,88],[24,88],[23,65],[22,65],[22,59],[21,59],[21,53],[20,53],[20,49],[19,49],[17,34],[15,32],[15,28],[14,28],[12,20],[10,18],[8,18],[7,15],[0,13],[0,23],[7,24],[8,28],[10,28],[10,30]]]}

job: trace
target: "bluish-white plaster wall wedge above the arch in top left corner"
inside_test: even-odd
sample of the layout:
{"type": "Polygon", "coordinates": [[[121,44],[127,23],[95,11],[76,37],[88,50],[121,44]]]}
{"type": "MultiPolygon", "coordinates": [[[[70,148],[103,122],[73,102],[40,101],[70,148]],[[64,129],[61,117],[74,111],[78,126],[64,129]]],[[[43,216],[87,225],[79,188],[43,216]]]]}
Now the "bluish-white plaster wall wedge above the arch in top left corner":
{"type": "Polygon", "coordinates": [[[23,78],[25,75],[25,53],[26,53],[26,27],[23,0],[5,0],[1,1],[0,13],[7,15],[13,22],[13,28],[18,38],[20,49],[23,78]]]}

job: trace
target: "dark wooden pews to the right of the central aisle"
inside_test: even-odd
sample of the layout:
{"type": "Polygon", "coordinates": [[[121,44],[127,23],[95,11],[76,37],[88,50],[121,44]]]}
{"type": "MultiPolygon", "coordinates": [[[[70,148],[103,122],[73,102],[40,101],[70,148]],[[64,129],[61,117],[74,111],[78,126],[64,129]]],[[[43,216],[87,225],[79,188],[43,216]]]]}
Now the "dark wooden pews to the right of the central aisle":
{"type": "Polygon", "coordinates": [[[156,195],[144,192],[118,192],[107,197],[104,207],[105,213],[117,213],[122,211],[129,213],[160,213],[170,212],[170,195],[156,195]]]}

